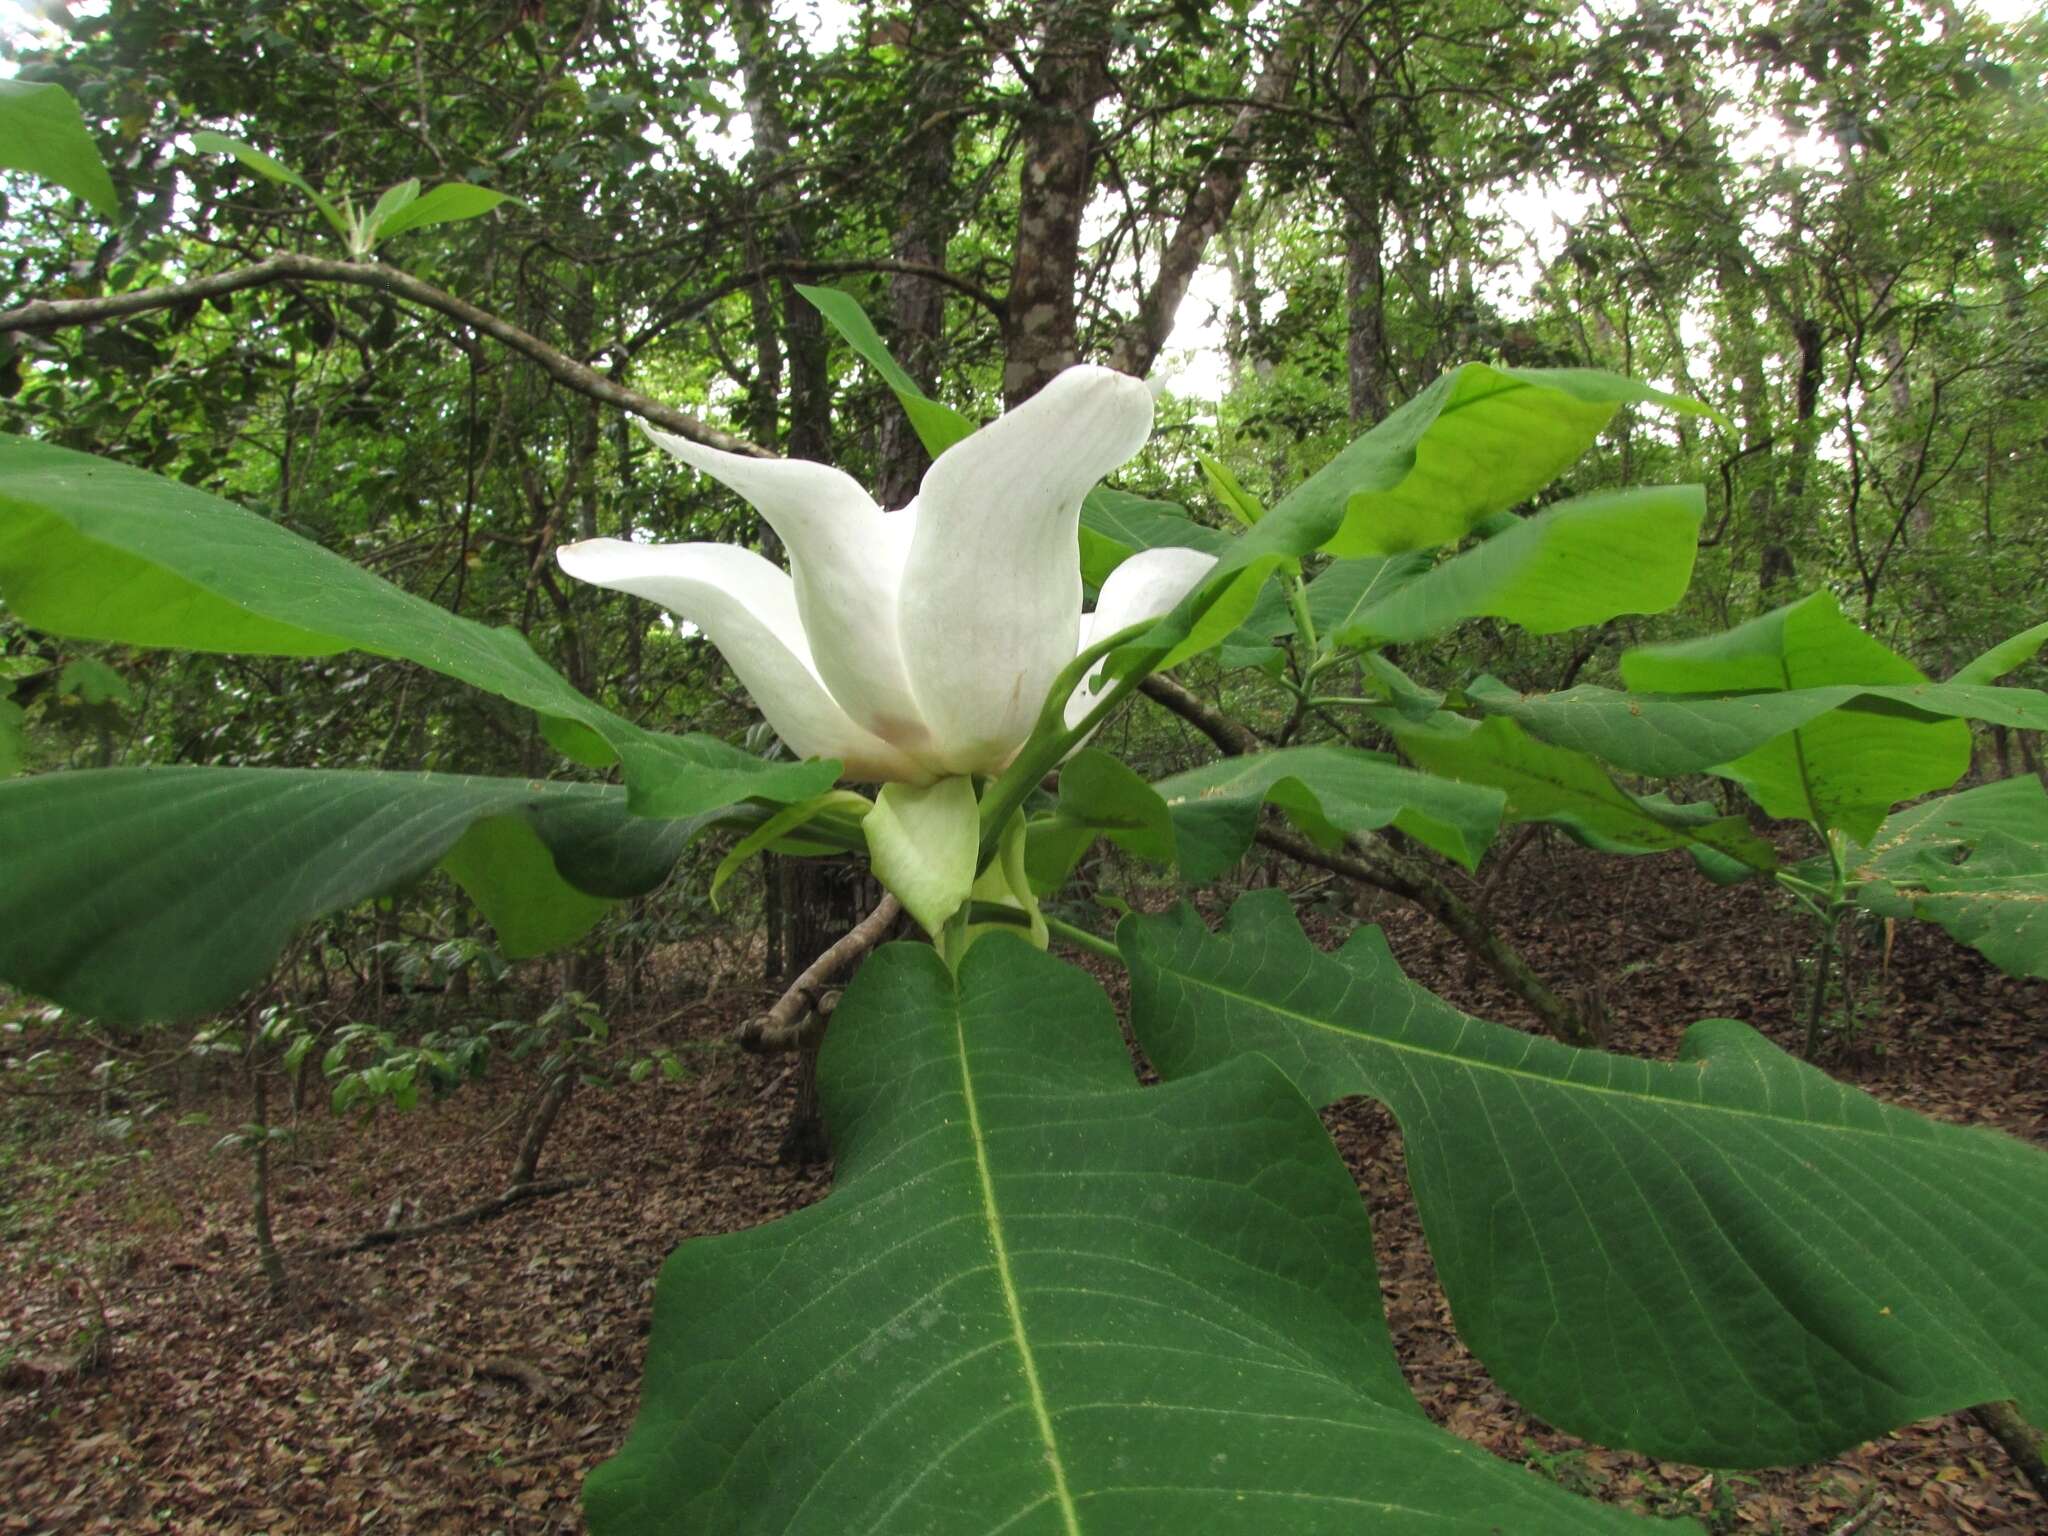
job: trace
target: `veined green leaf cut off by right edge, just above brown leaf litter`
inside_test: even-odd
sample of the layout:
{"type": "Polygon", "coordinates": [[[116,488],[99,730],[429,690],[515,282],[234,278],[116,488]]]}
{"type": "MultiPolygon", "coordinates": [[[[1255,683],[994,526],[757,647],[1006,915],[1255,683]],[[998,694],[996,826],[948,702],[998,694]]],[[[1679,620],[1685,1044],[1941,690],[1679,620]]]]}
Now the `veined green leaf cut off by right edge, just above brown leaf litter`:
{"type": "Polygon", "coordinates": [[[2028,774],[1898,811],[1851,850],[1849,885],[1882,918],[1939,924],[2007,975],[2048,977],[2048,791],[2028,774]]]}

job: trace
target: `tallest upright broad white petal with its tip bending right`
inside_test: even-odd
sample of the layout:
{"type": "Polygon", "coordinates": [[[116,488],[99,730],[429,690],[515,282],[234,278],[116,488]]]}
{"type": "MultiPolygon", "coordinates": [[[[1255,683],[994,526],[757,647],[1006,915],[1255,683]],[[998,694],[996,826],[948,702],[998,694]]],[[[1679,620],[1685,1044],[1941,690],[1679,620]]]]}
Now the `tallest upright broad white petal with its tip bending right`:
{"type": "Polygon", "coordinates": [[[999,772],[1081,629],[1081,498],[1151,432],[1151,391],[1067,369],[938,457],[903,567],[903,662],[948,772],[999,772]]]}

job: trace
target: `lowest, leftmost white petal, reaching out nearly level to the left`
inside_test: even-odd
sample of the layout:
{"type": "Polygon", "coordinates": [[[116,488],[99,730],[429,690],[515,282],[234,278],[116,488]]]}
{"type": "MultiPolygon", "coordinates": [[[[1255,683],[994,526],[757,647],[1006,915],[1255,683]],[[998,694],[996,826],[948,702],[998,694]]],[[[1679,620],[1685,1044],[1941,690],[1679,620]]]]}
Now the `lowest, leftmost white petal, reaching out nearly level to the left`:
{"type": "Polygon", "coordinates": [[[858,780],[930,778],[856,725],[825,690],[811,666],[791,580],[752,549],[586,539],[563,545],[555,559],[578,582],[659,602],[702,629],[799,758],[840,758],[846,778],[858,780]]]}

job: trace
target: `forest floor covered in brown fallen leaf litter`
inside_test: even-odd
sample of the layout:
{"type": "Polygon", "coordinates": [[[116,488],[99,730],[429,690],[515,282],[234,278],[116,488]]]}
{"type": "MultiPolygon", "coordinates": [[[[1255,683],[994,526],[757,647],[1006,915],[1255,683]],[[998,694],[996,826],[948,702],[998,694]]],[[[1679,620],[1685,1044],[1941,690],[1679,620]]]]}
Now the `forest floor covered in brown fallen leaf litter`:
{"type": "MultiPolygon", "coordinates": [[[[1669,1057],[1686,1024],[1710,1016],[1798,1049],[1806,932],[1767,891],[1708,887],[1681,860],[1540,840],[1493,905],[1540,971],[1606,1012],[1614,1049],[1669,1057]]],[[[1305,903],[1325,942],[1362,915],[1386,924],[1417,981],[1518,1022],[1417,913],[1305,903]]],[[[1864,956],[1862,1028],[1835,1042],[1829,1069],[1937,1118],[2048,1143],[2048,987],[1997,975],[1931,928],[1901,930],[1888,963],[1880,942],[1864,956]]],[[[827,1190],[823,1169],[776,1163],[791,1061],[725,1044],[768,991],[705,999],[700,961],[666,954],[647,1010],[668,1040],[694,1042],[694,1071],[584,1092],[555,1130],[543,1178],[596,1176],[586,1188],[422,1241],[303,1257],[385,1225],[393,1206],[418,1221],[496,1192],[520,1083],[387,1114],[369,1135],[307,1112],[276,1163],[283,1303],[256,1272],[248,1159],[213,1151],[244,1118],[238,1100],[209,1104],[211,1126],[166,1112],[119,1145],[76,1112],[16,1114],[0,1139],[0,1368],[76,1350],[100,1311],[109,1331],[88,1372],[12,1370],[0,1389],[0,1532],[582,1530],[578,1485],[633,1417],[662,1257],[827,1190]],[[66,1278],[80,1272],[96,1298],[66,1278]]],[[[1120,993],[1114,967],[1092,969],[1120,993]]],[[[1733,1477],[1532,1421],[1452,1331],[1391,1118],[1362,1102],[1327,1118],[1372,1210],[1401,1362],[1452,1432],[1591,1497],[1714,1532],[2048,1532],[2048,1509],[1960,1417],[1827,1464],[1733,1477]]]]}

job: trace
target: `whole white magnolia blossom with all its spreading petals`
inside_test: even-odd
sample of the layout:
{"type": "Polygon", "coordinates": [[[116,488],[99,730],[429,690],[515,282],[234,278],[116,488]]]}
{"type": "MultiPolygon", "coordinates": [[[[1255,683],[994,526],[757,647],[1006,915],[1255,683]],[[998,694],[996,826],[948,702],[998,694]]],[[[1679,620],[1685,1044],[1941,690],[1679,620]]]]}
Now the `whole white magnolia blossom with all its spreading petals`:
{"type": "Polygon", "coordinates": [[[897,512],[829,465],[643,428],[752,502],[788,549],[788,573],[733,545],[588,539],[555,555],[569,575],[702,629],[803,758],[842,758],[852,780],[995,774],[1081,649],[1163,614],[1214,563],[1143,551],[1081,612],[1081,498],[1139,451],[1151,418],[1141,381],[1067,369],[942,453],[897,512]]]}

